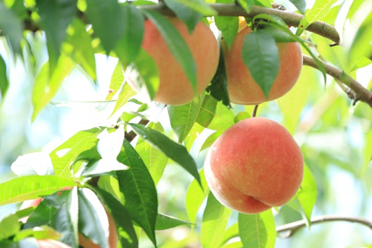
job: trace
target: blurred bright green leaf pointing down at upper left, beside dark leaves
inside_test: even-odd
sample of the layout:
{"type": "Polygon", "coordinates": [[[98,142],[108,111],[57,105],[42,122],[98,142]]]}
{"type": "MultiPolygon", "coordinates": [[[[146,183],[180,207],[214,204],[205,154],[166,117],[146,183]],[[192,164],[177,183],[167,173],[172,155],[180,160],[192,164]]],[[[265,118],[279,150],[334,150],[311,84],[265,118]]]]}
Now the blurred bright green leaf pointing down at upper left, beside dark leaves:
{"type": "Polygon", "coordinates": [[[91,36],[87,33],[85,24],[77,18],[68,26],[66,42],[62,49],[82,66],[91,79],[96,80],[96,59],[91,36]]]}

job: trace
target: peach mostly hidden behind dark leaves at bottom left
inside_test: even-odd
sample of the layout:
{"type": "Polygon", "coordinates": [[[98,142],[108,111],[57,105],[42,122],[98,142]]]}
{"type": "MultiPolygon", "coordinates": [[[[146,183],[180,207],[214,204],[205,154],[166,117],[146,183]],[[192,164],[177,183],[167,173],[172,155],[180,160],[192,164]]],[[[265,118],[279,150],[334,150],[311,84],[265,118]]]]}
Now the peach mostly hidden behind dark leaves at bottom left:
{"type": "MultiPolygon", "coordinates": [[[[66,190],[70,189],[69,187],[66,187],[61,190],[66,190]]],[[[38,204],[42,201],[42,198],[39,199],[32,199],[32,200],[27,200],[24,201],[21,205],[20,209],[25,209],[33,206],[38,206],[38,204]]],[[[117,234],[117,228],[115,226],[114,219],[112,218],[112,215],[110,215],[109,212],[105,209],[106,214],[107,214],[107,219],[108,219],[108,228],[109,228],[109,237],[108,237],[108,242],[110,245],[110,248],[117,248],[117,242],[118,242],[118,234],[117,234]]],[[[24,217],[20,219],[22,222],[27,222],[28,217],[24,217]]],[[[38,240],[38,244],[40,245],[41,248],[49,248],[49,247],[61,247],[61,248],[68,248],[68,245],[65,245],[62,242],[59,242],[57,240],[38,240]]],[[[84,237],[81,233],[79,233],[79,245],[84,248],[100,248],[99,245],[95,244],[91,240],[88,240],[87,238],[84,237]]]]}

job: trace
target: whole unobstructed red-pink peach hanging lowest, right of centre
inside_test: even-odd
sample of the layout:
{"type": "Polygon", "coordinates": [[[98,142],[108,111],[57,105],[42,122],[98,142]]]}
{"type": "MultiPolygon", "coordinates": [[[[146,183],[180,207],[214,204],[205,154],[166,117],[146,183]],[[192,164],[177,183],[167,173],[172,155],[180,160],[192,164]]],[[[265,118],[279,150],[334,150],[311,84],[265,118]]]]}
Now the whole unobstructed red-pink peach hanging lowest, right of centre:
{"type": "Polygon", "coordinates": [[[204,173],[224,206],[256,214],[283,206],[302,183],[304,159],[291,134],[267,118],[244,119],[209,148],[204,173]]]}

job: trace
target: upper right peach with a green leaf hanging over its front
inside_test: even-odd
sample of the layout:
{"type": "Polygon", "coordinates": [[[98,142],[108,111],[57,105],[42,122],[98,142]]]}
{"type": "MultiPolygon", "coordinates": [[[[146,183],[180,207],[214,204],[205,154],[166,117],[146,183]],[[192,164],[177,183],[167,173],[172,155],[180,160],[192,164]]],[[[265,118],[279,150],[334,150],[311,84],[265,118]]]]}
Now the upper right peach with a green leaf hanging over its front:
{"type": "MultiPolygon", "coordinates": [[[[239,26],[242,26],[240,22],[239,26]]],[[[271,86],[269,97],[265,95],[255,82],[241,57],[244,37],[251,33],[246,26],[237,33],[230,50],[222,42],[223,58],[225,59],[226,75],[228,77],[228,93],[230,101],[236,104],[260,104],[280,98],[295,85],[302,69],[302,51],[298,42],[277,42],[279,52],[278,75],[271,86]]]]}

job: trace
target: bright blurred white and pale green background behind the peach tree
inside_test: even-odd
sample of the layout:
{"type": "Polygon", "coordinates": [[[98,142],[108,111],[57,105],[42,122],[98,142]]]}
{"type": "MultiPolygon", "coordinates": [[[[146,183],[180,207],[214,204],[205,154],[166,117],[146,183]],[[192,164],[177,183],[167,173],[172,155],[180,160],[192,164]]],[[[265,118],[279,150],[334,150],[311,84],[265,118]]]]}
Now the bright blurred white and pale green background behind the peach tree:
{"type": "MultiPolygon", "coordinates": [[[[282,1],[291,8],[288,1],[282,1]]],[[[352,1],[338,1],[325,18],[348,33],[351,22],[345,20],[352,1]],[[342,18],[341,18],[342,17],[342,18]]],[[[308,1],[311,6],[312,1],[308,1]]],[[[372,11],[365,10],[365,11],[372,11]]],[[[310,35],[309,35],[310,37],[310,35]]],[[[6,61],[10,88],[0,105],[0,182],[15,176],[10,165],[18,156],[43,150],[49,153],[79,130],[88,129],[107,122],[112,111],[112,102],[105,100],[116,59],[96,56],[97,80],[92,82],[82,70],[75,68],[62,84],[54,98],[31,123],[31,93],[34,77],[41,65],[47,61],[45,36],[42,33],[29,35],[35,58],[25,58],[27,67],[13,58],[6,42],[0,38],[0,54],[6,61]],[[58,103],[56,104],[55,102],[58,103]]],[[[348,51],[343,47],[328,46],[324,38],[311,36],[318,44],[320,54],[355,77],[358,82],[371,89],[372,65],[352,70],[348,65],[348,51]]],[[[239,111],[251,111],[251,107],[234,106],[239,111]]],[[[313,217],[320,215],[358,216],[372,222],[372,109],[351,100],[330,77],[327,84],[322,75],[304,67],[299,82],[283,99],[262,104],[259,116],[267,116],[283,123],[294,134],[302,146],[305,161],[313,173],[318,196],[313,217]]],[[[169,128],[166,109],[159,121],[169,128]]],[[[198,139],[202,142],[203,138],[198,139]]],[[[191,150],[198,166],[202,166],[204,152],[191,150]]],[[[192,178],[179,166],[167,166],[158,184],[159,210],[187,220],[184,199],[192,178]],[[182,176],[179,176],[182,175],[182,176]]],[[[17,210],[17,204],[0,206],[0,219],[17,210]]],[[[302,219],[299,213],[283,207],[276,215],[276,225],[302,219]]],[[[198,221],[200,222],[201,216],[198,221]]],[[[160,247],[200,247],[198,231],[188,226],[159,232],[160,247]]],[[[285,233],[280,233],[280,235],[285,233]]],[[[143,235],[144,236],[144,235],[143,235]]],[[[141,247],[151,247],[143,238],[141,247]]],[[[276,240],[276,247],[372,247],[372,232],[367,226],[350,222],[329,222],[303,228],[291,238],[276,240]]]]}

